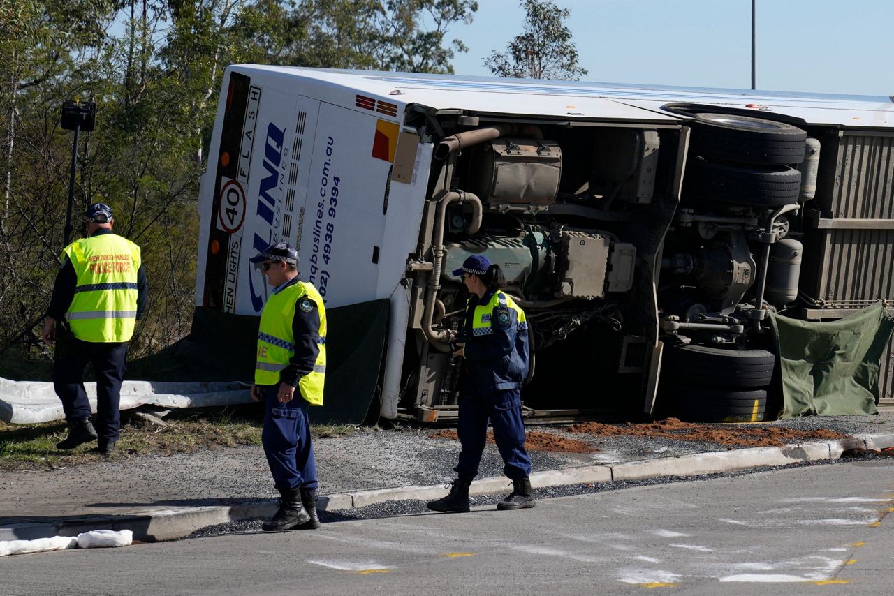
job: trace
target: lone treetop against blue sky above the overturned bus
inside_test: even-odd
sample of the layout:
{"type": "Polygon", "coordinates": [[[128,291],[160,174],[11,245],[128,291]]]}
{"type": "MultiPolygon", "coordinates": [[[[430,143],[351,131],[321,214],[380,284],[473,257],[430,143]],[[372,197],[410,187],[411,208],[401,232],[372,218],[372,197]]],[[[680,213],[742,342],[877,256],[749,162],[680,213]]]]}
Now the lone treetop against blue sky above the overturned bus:
{"type": "Polygon", "coordinates": [[[500,77],[513,79],[579,80],[586,69],[578,64],[578,50],[565,20],[571,12],[549,0],[524,0],[525,31],[510,41],[506,52],[492,52],[485,66],[500,77]]]}

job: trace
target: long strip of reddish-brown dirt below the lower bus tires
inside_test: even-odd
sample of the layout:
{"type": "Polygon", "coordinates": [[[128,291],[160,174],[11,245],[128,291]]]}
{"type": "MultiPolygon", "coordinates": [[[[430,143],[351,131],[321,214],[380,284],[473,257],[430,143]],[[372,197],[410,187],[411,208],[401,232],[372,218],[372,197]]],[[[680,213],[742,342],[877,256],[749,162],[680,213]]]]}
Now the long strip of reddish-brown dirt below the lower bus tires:
{"type": "Polygon", "coordinates": [[[575,434],[626,435],[651,439],[674,439],[677,441],[707,441],[728,447],[781,447],[788,443],[806,440],[846,439],[848,435],[819,429],[797,431],[785,426],[729,426],[706,427],[703,424],[680,422],[677,418],[667,418],[644,424],[600,424],[587,422],[572,424],[565,428],[575,434]]]}

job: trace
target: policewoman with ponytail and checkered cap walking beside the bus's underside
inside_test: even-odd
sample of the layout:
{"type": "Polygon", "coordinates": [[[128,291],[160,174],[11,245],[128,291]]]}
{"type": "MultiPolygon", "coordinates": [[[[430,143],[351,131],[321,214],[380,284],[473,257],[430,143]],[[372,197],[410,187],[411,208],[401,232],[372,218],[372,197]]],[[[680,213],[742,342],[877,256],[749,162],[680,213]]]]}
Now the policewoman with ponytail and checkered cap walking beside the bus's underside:
{"type": "Polygon", "coordinates": [[[512,492],[498,509],[534,507],[531,460],[525,450],[521,417],[521,385],[527,377],[528,348],[525,313],[501,288],[506,281],[500,265],[484,255],[469,256],[453,275],[461,275],[469,292],[465,324],[453,343],[463,357],[460,385],[460,461],[450,494],[428,503],[434,511],[468,511],[468,487],[478,474],[485,449],[487,421],[503,459],[503,474],[512,492]]]}

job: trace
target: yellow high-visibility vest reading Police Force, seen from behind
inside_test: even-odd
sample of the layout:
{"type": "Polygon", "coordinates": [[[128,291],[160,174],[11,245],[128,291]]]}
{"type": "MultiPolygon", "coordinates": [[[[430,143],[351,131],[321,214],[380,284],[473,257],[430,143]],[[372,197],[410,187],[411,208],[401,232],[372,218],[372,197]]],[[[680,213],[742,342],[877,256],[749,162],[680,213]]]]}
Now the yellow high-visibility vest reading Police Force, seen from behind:
{"type": "Polygon", "coordinates": [[[100,234],[63,248],[77,281],[65,313],[74,337],[83,341],[127,341],[137,321],[139,247],[115,234],[100,234]]]}

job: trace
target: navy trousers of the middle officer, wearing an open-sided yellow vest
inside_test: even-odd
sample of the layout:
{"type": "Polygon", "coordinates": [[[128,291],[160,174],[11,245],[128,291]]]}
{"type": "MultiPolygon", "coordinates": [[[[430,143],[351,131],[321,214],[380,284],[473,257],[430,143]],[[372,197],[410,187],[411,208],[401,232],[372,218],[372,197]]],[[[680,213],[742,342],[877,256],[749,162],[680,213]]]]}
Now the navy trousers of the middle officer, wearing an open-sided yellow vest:
{"type": "Polygon", "coordinates": [[[276,399],[279,385],[261,388],[264,398],[264,431],[261,442],[277,489],[316,489],[316,461],[310,441],[307,399],[295,390],[295,397],[281,404],[276,399]]]}

